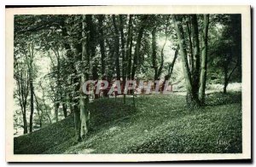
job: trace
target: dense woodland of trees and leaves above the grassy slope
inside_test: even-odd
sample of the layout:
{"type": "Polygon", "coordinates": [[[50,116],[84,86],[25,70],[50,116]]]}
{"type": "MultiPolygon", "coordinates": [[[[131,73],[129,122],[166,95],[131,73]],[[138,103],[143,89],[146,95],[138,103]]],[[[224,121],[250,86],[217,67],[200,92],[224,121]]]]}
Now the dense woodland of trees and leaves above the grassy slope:
{"type": "MultiPolygon", "coordinates": [[[[241,14],[15,15],[14,46],[15,135],[73,115],[81,141],[90,102],[113,96],[84,95],[89,79],[169,81],[198,110],[206,90],[241,83],[241,14]]],[[[136,107],[135,94],[115,98],[136,107]]]]}

